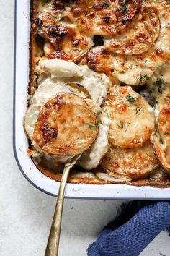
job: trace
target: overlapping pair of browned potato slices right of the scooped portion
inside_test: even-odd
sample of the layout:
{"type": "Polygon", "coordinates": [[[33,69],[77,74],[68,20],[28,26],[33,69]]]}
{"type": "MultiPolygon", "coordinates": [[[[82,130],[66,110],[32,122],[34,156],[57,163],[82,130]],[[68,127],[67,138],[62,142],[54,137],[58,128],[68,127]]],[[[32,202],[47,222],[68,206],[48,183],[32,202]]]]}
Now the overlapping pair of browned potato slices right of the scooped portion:
{"type": "Polygon", "coordinates": [[[112,88],[102,111],[102,118],[106,116],[109,151],[101,164],[108,174],[137,179],[158,167],[150,142],[153,108],[138,93],[129,86],[112,88]]]}

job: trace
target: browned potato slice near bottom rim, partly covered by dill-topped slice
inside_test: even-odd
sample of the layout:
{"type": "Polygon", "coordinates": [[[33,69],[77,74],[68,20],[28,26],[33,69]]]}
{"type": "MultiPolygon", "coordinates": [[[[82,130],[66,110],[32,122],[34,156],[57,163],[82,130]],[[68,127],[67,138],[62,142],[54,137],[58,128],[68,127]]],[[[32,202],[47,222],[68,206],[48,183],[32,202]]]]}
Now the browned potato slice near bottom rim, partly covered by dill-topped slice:
{"type": "Polygon", "coordinates": [[[151,142],[142,147],[125,149],[111,146],[101,162],[107,174],[128,176],[138,179],[147,176],[150,171],[158,167],[158,161],[153,153],[151,142]]]}

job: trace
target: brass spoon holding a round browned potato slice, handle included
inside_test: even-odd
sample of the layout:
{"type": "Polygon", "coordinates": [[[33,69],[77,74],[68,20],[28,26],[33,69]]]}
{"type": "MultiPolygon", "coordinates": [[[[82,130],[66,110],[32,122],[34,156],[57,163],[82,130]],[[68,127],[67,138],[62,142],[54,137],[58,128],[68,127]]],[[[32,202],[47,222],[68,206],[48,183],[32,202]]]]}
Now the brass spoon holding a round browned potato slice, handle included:
{"type": "MultiPolygon", "coordinates": [[[[81,153],[91,147],[99,132],[97,115],[91,111],[85,99],[72,93],[68,88],[65,91],[59,89],[61,90],[60,86],[55,86],[52,90],[52,98],[45,102],[42,101],[42,97],[43,103],[41,102],[39,107],[35,103],[37,96],[35,95],[32,100],[34,108],[32,110],[30,106],[24,123],[37,152],[53,156],[57,161],[65,163],[46,256],[58,255],[63,197],[69,171],[80,158],[81,153]],[[32,121],[32,113],[35,115],[34,121],[32,121]]],[[[42,89],[39,89],[38,93],[40,90],[42,89]]]]}

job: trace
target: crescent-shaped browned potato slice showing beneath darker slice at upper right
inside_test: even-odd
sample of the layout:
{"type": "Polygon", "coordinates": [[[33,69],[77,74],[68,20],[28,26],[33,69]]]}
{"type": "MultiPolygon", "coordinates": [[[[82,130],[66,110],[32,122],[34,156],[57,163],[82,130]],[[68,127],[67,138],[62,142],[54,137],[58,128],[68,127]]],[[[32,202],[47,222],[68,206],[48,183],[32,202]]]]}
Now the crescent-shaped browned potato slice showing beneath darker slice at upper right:
{"type": "Polygon", "coordinates": [[[133,19],[127,30],[112,39],[104,39],[109,51],[117,54],[141,54],[153,45],[159,33],[159,19],[156,8],[146,7],[133,19]]]}

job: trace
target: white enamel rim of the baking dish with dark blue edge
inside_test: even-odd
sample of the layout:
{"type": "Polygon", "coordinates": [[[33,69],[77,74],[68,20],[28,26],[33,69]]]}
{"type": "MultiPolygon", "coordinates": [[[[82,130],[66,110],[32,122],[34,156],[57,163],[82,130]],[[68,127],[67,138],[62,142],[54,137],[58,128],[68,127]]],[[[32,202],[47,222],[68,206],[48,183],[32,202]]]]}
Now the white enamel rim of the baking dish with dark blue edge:
{"type": "MultiPolygon", "coordinates": [[[[14,43],[14,155],[24,177],[48,195],[58,194],[59,182],[43,175],[27,155],[27,137],[22,126],[27,107],[29,80],[30,1],[15,1],[14,43]]],[[[66,197],[108,199],[170,199],[170,188],[134,187],[125,184],[67,184],[66,197]]]]}

